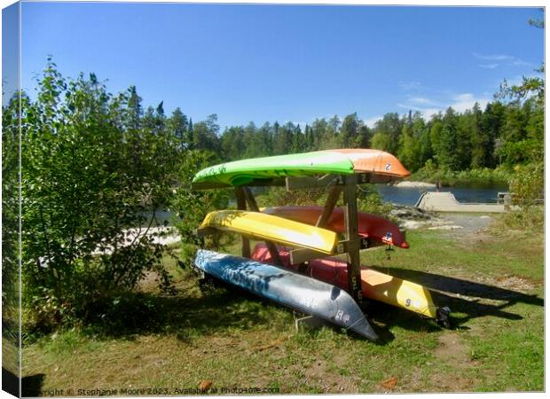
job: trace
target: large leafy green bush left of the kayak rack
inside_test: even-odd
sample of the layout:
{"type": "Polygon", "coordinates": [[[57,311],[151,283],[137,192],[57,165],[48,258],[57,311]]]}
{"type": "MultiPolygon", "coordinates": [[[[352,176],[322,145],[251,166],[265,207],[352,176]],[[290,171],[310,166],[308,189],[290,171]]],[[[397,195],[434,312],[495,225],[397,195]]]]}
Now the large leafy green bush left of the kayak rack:
{"type": "Polygon", "coordinates": [[[139,100],[135,89],[114,97],[93,74],[67,80],[49,62],[22,105],[23,299],[45,328],[86,323],[146,272],[169,290],[162,247],[145,233],[181,146],[161,115],[142,126],[139,100]]]}

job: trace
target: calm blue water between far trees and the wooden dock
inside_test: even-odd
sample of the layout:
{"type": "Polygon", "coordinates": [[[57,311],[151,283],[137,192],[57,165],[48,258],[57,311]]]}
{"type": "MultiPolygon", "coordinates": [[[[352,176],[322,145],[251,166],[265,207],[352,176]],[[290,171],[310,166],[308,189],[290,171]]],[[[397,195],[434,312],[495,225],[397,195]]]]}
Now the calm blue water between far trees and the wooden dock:
{"type": "MultiPolygon", "coordinates": [[[[387,184],[375,184],[385,202],[398,205],[414,205],[422,192],[435,192],[436,188],[427,187],[396,187],[387,184]]],[[[496,203],[499,192],[507,192],[503,185],[483,187],[443,187],[440,192],[452,192],[459,202],[496,203]]]]}

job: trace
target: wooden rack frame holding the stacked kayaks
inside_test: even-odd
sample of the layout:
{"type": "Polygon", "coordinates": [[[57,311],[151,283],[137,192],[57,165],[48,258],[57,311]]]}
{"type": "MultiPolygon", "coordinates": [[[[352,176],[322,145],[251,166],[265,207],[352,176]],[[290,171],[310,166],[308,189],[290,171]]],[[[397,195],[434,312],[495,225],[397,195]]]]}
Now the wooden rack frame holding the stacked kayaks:
{"type": "MultiPolygon", "coordinates": [[[[194,190],[206,190],[214,188],[233,187],[237,197],[237,208],[240,210],[250,210],[259,212],[255,197],[250,190],[251,186],[284,186],[287,191],[315,187],[329,187],[328,197],[326,199],[323,212],[318,217],[316,227],[323,228],[332,215],[336,203],[343,194],[344,202],[344,236],[345,239],[338,242],[334,248],[334,254],[347,254],[348,261],[348,283],[349,293],[359,306],[363,305],[363,295],[361,287],[361,266],[359,251],[370,247],[369,239],[362,238],[358,234],[358,184],[365,183],[383,183],[389,181],[389,176],[379,176],[370,173],[357,173],[350,175],[325,175],[315,176],[287,176],[272,179],[257,179],[247,185],[233,187],[229,184],[221,183],[198,183],[193,184],[194,190]]],[[[208,235],[216,231],[207,229],[199,231],[200,235],[208,235]]],[[[274,242],[266,241],[270,251],[271,259],[277,265],[282,265],[279,258],[279,251],[274,242]]],[[[250,241],[242,237],[241,254],[243,257],[250,258],[250,241]]],[[[308,262],[312,259],[318,259],[328,256],[318,251],[299,248],[290,252],[290,259],[293,264],[308,262]]]]}

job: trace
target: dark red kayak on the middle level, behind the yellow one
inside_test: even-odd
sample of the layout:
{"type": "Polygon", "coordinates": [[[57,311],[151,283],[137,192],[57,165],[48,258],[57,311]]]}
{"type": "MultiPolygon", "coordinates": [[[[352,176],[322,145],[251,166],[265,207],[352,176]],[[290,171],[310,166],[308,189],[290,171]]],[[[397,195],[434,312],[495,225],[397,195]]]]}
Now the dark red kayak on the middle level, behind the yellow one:
{"type": "MultiPolygon", "coordinates": [[[[262,211],[268,215],[276,215],[295,222],[315,225],[323,212],[323,207],[266,207],[262,211]]],[[[359,235],[369,237],[384,244],[408,248],[405,234],[399,230],[396,223],[389,222],[381,216],[358,213],[359,235]]],[[[334,207],[333,214],[328,218],[326,229],[344,232],[344,212],[341,207],[334,207]]]]}

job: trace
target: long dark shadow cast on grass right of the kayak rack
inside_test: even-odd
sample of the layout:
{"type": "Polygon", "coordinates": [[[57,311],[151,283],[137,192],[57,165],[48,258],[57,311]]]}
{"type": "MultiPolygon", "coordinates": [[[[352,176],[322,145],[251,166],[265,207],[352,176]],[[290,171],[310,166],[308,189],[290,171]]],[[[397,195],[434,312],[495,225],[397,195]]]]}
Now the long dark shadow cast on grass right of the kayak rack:
{"type": "MultiPolygon", "coordinates": [[[[382,272],[386,272],[388,270],[387,268],[377,267],[373,267],[373,269],[380,270],[382,272]]],[[[521,315],[504,310],[507,307],[515,305],[516,303],[525,303],[538,307],[544,306],[544,300],[539,298],[537,295],[528,295],[526,293],[519,293],[505,288],[475,283],[460,278],[426,273],[419,270],[397,268],[391,270],[391,275],[397,278],[413,281],[427,287],[432,291],[432,298],[436,302],[437,306],[448,306],[453,313],[466,314],[466,317],[453,317],[453,324],[455,326],[463,325],[472,318],[485,316],[506,318],[508,320],[521,320],[523,319],[521,315]],[[481,303],[479,300],[468,301],[447,293],[460,294],[492,301],[504,301],[504,303],[493,305],[481,303]]],[[[406,310],[404,312],[406,312],[406,310]]],[[[401,315],[399,315],[397,323],[399,325],[404,325],[405,322],[405,325],[409,325],[407,318],[408,317],[401,317],[401,315]]],[[[416,329],[417,325],[412,323],[410,327],[416,329]]]]}

